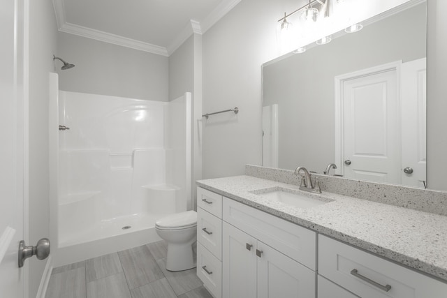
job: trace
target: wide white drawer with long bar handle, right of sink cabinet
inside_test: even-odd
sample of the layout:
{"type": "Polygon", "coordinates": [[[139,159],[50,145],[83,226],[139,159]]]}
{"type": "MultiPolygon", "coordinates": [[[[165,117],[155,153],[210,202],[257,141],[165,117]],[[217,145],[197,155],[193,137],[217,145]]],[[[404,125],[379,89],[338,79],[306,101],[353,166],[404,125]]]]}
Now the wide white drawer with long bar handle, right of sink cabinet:
{"type": "Polygon", "coordinates": [[[445,283],[323,235],[318,274],[362,298],[445,298],[447,293],[445,283]]]}

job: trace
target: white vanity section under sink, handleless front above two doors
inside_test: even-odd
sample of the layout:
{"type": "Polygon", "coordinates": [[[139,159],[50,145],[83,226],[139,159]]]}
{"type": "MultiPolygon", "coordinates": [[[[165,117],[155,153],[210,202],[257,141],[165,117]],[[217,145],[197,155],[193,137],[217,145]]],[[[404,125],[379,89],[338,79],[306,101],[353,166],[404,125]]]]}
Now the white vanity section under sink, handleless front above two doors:
{"type": "Polygon", "coordinates": [[[316,297],[315,232],[228,198],[222,212],[222,297],[316,297]]]}

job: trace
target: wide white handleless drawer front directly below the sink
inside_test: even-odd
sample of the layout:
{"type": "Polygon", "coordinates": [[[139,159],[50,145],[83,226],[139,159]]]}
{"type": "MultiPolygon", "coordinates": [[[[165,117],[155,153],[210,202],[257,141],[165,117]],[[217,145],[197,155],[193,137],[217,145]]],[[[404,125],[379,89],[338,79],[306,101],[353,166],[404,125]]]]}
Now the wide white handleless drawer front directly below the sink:
{"type": "Polygon", "coordinates": [[[223,220],[316,270],[316,233],[228,198],[223,198],[223,220]]]}

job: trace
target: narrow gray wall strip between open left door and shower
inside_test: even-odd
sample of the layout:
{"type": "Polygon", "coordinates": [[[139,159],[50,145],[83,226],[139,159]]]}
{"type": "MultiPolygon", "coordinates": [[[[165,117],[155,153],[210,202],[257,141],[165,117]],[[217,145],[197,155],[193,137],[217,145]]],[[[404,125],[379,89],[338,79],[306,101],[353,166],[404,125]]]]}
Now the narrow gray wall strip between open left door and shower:
{"type": "MultiPolygon", "coordinates": [[[[29,241],[50,237],[48,156],[49,73],[57,52],[57,27],[51,0],[29,1],[29,241]]],[[[30,258],[29,297],[36,297],[47,260],[30,258]]]]}

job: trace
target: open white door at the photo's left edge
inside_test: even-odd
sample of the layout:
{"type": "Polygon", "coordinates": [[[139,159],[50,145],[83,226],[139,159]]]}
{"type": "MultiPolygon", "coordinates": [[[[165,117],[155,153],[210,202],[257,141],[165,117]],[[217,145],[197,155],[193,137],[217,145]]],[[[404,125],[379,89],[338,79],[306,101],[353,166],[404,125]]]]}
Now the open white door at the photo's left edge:
{"type": "Polygon", "coordinates": [[[24,237],[23,29],[21,0],[0,0],[0,296],[24,297],[18,268],[24,237]]]}

